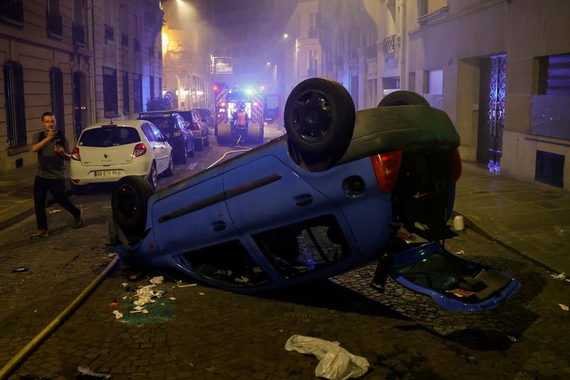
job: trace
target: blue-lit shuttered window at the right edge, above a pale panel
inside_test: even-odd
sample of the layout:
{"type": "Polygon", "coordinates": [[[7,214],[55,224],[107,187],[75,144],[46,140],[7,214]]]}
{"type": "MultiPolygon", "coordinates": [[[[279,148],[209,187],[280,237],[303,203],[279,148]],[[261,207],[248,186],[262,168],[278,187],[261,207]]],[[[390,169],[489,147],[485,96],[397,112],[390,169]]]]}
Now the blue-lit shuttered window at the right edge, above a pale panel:
{"type": "Polygon", "coordinates": [[[570,54],[540,58],[539,95],[570,95],[570,54]]]}

